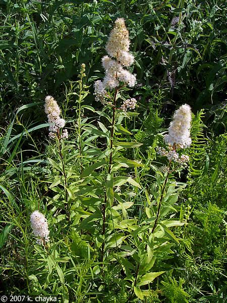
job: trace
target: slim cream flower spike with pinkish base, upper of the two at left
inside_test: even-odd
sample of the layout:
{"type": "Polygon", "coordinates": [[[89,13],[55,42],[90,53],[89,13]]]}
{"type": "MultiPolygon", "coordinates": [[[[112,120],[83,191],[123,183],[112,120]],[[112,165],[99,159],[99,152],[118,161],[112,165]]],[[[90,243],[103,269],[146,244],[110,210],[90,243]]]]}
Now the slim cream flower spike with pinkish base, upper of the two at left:
{"type": "MultiPolygon", "coordinates": [[[[45,113],[50,124],[49,137],[54,138],[58,130],[65,126],[65,120],[60,117],[61,110],[52,96],[45,97],[45,113]]],[[[64,129],[62,138],[68,138],[67,129],[64,129]]]]}

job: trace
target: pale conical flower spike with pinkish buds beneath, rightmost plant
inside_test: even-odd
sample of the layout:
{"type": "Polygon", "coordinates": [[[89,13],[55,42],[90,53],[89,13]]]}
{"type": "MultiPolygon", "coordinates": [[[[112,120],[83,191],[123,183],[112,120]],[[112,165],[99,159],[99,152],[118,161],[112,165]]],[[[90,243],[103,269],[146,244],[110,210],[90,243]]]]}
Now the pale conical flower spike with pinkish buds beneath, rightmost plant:
{"type": "Polygon", "coordinates": [[[157,154],[165,156],[169,162],[177,162],[185,165],[189,162],[189,157],[177,153],[177,149],[187,148],[191,145],[190,127],[191,127],[191,108],[187,104],[182,105],[174,114],[173,121],[168,128],[168,134],[164,136],[164,142],[168,146],[168,150],[158,146],[157,154]]]}

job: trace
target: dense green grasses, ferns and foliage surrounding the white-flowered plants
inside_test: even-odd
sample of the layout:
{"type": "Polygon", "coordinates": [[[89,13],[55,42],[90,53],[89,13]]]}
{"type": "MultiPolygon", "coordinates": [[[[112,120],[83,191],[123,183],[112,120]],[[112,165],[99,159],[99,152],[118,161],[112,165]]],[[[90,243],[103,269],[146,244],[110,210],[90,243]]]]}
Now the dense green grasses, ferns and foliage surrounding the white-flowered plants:
{"type": "MultiPolygon", "coordinates": [[[[87,246],[92,239],[82,232],[84,226],[67,236],[64,215],[55,213],[61,202],[54,199],[58,188],[53,193],[49,185],[58,185],[52,183],[58,169],[47,158],[58,162],[58,156],[55,145],[48,142],[43,107],[46,95],[58,101],[70,133],[66,153],[77,157],[73,150],[78,139],[81,64],[86,65],[83,115],[91,121],[98,114],[89,106],[102,110],[94,100],[93,83],[103,78],[100,62],[107,36],[117,17],[124,17],[136,59],[131,72],[137,74],[137,85],[128,93],[138,102],[138,116],[125,127],[133,134],[131,140],[143,145],[122,155],[144,161],[145,167],[135,173],[143,188],[154,184],[150,163],[160,161],[155,147],[174,111],[187,103],[194,113],[190,165],[177,175],[179,182],[187,183],[176,207],[187,224],[175,228],[181,240],[172,251],[159,252],[152,270],[164,274],[150,284],[149,295],[130,299],[224,301],[225,15],[222,0],[1,1],[0,292],[61,294],[65,301],[76,302],[129,301],[128,284],[119,282],[119,275],[124,277],[121,267],[106,265],[100,271],[93,248],[87,246]],[[55,241],[59,239],[54,258],[59,258],[56,262],[61,267],[51,274],[56,264],[44,264],[46,257],[41,248],[34,248],[29,223],[31,211],[39,204],[49,225],[55,224],[55,241]],[[70,243],[72,256],[80,256],[79,261],[67,255],[70,243]],[[85,256],[88,248],[91,251],[85,256]],[[74,264],[71,268],[69,260],[74,264]]],[[[131,217],[141,219],[144,200],[141,190],[131,217]]]]}

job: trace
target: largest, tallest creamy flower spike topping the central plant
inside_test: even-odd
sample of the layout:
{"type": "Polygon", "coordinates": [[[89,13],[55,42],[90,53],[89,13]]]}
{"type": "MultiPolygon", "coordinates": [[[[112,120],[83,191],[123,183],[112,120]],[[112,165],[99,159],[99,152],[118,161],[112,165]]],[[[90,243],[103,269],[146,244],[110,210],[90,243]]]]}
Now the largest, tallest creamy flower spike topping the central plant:
{"type": "Polygon", "coordinates": [[[129,53],[129,32],[125,26],[125,20],[118,18],[110,32],[106,44],[106,52],[109,56],[102,58],[102,66],[105,70],[103,82],[100,80],[94,84],[95,100],[102,104],[105,89],[113,89],[121,83],[133,87],[136,83],[135,75],[131,74],[124,67],[129,67],[134,62],[134,57],[129,53]]]}

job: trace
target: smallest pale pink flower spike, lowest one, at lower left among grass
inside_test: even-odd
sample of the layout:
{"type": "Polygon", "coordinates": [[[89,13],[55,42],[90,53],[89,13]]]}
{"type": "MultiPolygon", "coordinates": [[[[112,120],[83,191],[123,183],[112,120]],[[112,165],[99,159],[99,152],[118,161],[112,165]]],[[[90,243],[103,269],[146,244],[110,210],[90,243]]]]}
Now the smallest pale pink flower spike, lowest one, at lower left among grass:
{"type": "Polygon", "coordinates": [[[49,241],[49,229],[46,218],[39,211],[34,211],[30,217],[31,226],[33,233],[36,237],[39,237],[36,242],[38,244],[43,243],[43,241],[49,241]]]}

